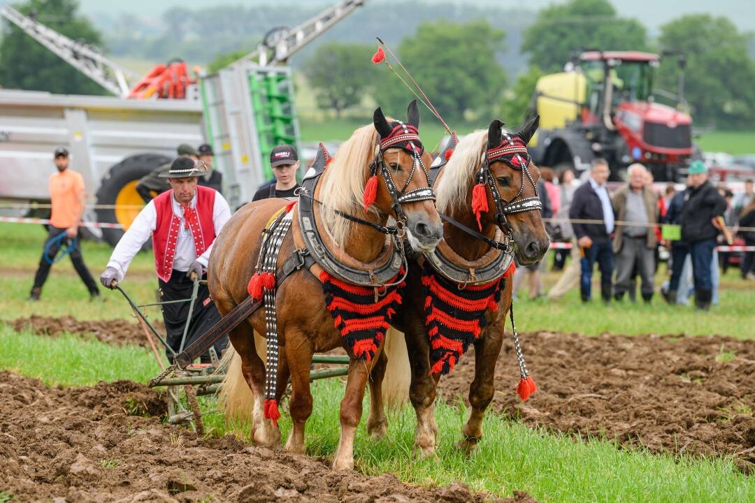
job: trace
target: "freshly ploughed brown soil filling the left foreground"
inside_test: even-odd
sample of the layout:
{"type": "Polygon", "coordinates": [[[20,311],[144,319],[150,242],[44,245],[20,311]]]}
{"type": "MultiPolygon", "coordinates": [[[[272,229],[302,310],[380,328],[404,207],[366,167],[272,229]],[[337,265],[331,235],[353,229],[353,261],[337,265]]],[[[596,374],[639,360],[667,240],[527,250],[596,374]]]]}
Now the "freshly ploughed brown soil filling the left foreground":
{"type": "MultiPolygon", "coordinates": [[[[322,459],[207,440],[162,424],[158,392],[134,382],[48,388],[0,372],[0,491],[14,501],[477,501],[461,484],[336,472],[322,459]],[[150,417],[129,415],[143,403],[150,417]]],[[[510,503],[531,503],[515,496],[510,503]]]]}

